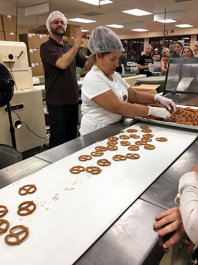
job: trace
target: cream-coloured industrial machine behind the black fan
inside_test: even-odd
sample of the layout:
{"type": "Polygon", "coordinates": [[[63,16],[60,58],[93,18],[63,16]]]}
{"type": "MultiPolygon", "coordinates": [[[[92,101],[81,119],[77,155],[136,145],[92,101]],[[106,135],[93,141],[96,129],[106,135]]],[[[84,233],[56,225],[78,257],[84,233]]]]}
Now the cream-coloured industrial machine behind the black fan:
{"type": "MultiPolygon", "coordinates": [[[[42,93],[41,89],[33,87],[26,45],[0,41],[0,63],[15,83],[9,104],[17,150],[23,152],[43,145],[47,140],[42,93]]],[[[0,143],[12,146],[7,105],[0,107],[0,143]]]]}

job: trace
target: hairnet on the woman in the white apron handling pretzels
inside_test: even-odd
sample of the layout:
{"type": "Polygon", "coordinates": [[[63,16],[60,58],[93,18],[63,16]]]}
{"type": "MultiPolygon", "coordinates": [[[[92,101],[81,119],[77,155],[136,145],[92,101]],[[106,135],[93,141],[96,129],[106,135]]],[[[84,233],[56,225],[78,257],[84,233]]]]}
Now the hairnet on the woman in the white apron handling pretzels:
{"type": "Polygon", "coordinates": [[[125,51],[119,37],[107,27],[96,27],[88,42],[88,48],[95,54],[108,51],[125,51]]]}

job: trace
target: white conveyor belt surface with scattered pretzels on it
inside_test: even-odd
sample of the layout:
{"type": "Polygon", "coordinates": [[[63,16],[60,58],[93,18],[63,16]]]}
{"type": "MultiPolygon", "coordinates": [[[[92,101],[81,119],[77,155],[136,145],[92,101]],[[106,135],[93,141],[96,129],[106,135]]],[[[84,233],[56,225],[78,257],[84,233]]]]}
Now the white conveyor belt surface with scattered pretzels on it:
{"type": "MultiPolygon", "coordinates": [[[[144,132],[137,123],[127,129],[144,132]]],[[[20,244],[10,246],[4,241],[8,231],[0,236],[1,264],[43,265],[73,264],[94,241],[127,209],[138,196],[196,139],[195,131],[149,124],[154,134],[151,144],[155,149],[130,151],[121,146],[118,150],[106,151],[100,157],[81,162],[79,155],[88,155],[98,145],[107,146],[107,139],[86,147],[40,171],[10,184],[0,190],[0,204],[8,208],[3,217],[10,222],[9,229],[22,224],[29,228],[28,237],[20,244]],[[158,142],[156,137],[168,141],[158,142]],[[139,159],[114,161],[116,154],[138,153],[139,159]],[[92,175],[86,171],[71,174],[76,165],[96,165],[99,159],[108,159],[111,165],[100,167],[102,172],[92,175]],[[20,187],[35,184],[33,194],[21,196],[20,187]],[[27,216],[17,214],[18,205],[33,200],[36,210],[27,216]]],[[[129,135],[124,129],[124,133],[129,135]]],[[[119,135],[118,135],[119,136],[119,135]]],[[[134,144],[140,139],[130,138],[134,144]]],[[[167,190],[167,196],[169,191],[167,190]]],[[[153,221],[154,221],[153,216],[153,221]]],[[[152,229],[152,228],[151,228],[152,229]]]]}

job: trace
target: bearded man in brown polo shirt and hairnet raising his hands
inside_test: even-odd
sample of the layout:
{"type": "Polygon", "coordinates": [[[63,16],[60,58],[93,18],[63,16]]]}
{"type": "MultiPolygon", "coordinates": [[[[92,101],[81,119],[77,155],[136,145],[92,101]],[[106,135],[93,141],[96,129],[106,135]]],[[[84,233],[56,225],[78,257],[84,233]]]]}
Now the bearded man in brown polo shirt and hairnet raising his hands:
{"type": "Polygon", "coordinates": [[[50,122],[49,148],[53,148],[76,138],[79,99],[76,67],[91,69],[95,59],[93,54],[87,58],[78,52],[81,28],[76,29],[74,46],[65,43],[67,19],[61,12],[52,12],[46,26],[50,37],[41,44],[40,57],[50,122]]]}

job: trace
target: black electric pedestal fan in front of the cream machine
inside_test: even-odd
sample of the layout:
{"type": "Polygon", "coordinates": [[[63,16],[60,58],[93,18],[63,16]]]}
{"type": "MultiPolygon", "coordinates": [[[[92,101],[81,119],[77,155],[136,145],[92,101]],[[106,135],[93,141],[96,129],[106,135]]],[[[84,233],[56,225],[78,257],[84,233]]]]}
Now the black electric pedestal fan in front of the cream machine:
{"type": "Polygon", "coordinates": [[[12,145],[16,149],[16,140],[15,140],[15,129],[12,123],[12,116],[10,111],[9,102],[14,94],[14,84],[15,82],[10,75],[8,69],[0,63],[0,107],[7,105],[8,117],[10,121],[10,134],[12,139],[12,145]]]}

